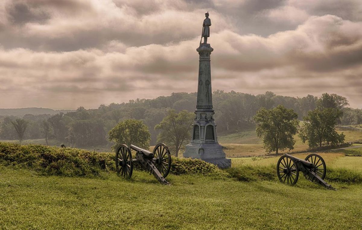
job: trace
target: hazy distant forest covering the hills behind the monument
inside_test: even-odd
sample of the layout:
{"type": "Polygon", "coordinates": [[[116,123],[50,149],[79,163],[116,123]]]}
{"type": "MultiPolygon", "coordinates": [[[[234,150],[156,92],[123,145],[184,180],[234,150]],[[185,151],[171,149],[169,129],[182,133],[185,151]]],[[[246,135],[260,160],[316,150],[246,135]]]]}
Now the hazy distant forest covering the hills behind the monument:
{"type": "MultiPolygon", "coordinates": [[[[149,127],[151,144],[154,144],[158,134],[154,127],[162,121],[167,110],[181,111],[185,109],[193,112],[196,106],[196,97],[197,93],[180,92],[172,93],[170,96],[160,96],[156,99],[136,99],[130,100],[128,103],[100,105],[98,109],[79,107],[73,112],[59,112],[55,115],[30,113],[22,117],[16,117],[14,114],[11,116],[0,115],[0,139],[17,139],[11,121],[16,120],[16,118],[23,118],[29,122],[24,139],[44,138],[43,124],[48,122],[50,126],[49,138],[56,138],[58,141],[77,147],[110,146],[107,140],[108,131],[119,121],[132,118],[142,120],[149,127]]],[[[348,101],[344,97],[338,95],[334,95],[334,97],[344,112],[340,121],[341,125],[362,123],[361,109],[348,108],[346,107],[348,101]]],[[[247,93],[217,90],[213,92],[212,99],[215,110],[214,118],[219,133],[233,133],[253,128],[252,117],[261,107],[270,109],[282,104],[286,108],[294,109],[298,113],[299,119],[302,120],[302,117],[309,110],[315,109],[318,103],[318,98],[312,95],[288,97],[275,95],[269,91],[255,96],[247,93]]],[[[24,109],[21,112],[24,112],[24,109]]]]}

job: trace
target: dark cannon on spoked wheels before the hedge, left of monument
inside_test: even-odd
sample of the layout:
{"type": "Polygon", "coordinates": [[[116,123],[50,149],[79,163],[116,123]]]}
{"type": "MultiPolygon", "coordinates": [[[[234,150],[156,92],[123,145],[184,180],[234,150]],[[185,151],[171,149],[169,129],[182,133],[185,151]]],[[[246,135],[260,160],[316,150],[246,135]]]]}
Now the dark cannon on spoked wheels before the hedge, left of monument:
{"type": "Polygon", "coordinates": [[[171,154],[165,144],[157,144],[152,152],[134,145],[119,145],[115,151],[117,173],[131,178],[134,163],[139,163],[144,170],[150,171],[150,175],[153,174],[160,183],[169,184],[165,178],[170,172],[171,154]],[[136,152],[135,159],[132,159],[131,149],[136,152]]]}

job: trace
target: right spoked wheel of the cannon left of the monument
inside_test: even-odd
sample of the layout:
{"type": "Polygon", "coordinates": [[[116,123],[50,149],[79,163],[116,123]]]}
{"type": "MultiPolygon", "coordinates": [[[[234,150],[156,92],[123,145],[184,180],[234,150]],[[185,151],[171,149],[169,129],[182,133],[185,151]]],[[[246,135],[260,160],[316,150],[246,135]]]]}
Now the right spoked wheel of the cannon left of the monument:
{"type": "Polygon", "coordinates": [[[171,169],[171,154],[164,143],[159,143],[153,149],[155,155],[155,166],[161,175],[166,178],[171,169]]]}

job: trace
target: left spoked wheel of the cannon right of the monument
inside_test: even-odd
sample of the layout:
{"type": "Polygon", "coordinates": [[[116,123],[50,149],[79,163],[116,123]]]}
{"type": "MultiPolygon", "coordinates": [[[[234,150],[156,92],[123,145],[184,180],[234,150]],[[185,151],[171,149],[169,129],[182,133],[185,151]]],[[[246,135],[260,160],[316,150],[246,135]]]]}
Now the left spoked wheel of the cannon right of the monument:
{"type": "Polygon", "coordinates": [[[290,156],[281,156],[277,163],[277,174],[282,183],[295,184],[299,176],[295,160],[290,156]]]}

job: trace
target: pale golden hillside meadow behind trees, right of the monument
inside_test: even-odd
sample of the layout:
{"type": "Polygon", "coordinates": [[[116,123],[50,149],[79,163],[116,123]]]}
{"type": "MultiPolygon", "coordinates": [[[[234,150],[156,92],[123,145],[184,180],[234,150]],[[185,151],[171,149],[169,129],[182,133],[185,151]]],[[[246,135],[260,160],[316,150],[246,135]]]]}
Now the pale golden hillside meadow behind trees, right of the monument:
{"type": "MultiPolygon", "coordinates": [[[[341,130],[336,129],[338,133],[344,133],[345,141],[355,141],[362,139],[362,131],[357,130],[341,130]]],[[[308,150],[308,143],[303,143],[298,137],[294,136],[295,152],[308,150]]],[[[234,134],[220,135],[219,143],[224,146],[224,152],[227,157],[237,156],[260,156],[268,155],[269,153],[263,148],[262,138],[258,138],[255,130],[247,130],[234,134]]],[[[273,152],[272,152],[273,153],[273,152]]],[[[280,153],[288,153],[288,150],[280,151],[280,153]]]]}

